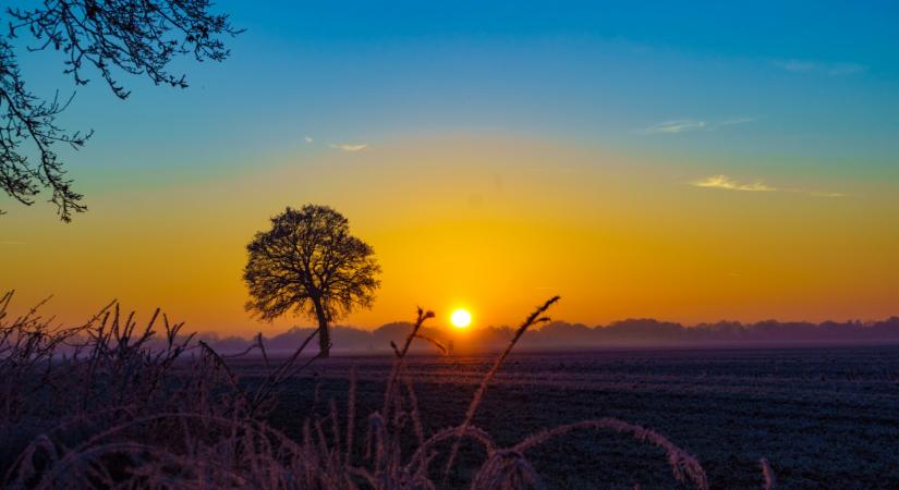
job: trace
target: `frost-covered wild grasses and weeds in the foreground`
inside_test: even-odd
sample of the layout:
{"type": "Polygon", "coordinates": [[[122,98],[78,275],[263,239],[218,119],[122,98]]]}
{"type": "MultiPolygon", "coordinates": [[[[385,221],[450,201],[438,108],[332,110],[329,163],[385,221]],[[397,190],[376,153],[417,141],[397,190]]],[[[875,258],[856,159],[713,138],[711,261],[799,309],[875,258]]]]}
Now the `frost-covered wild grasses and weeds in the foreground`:
{"type": "MultiPolygon", "coordinates": [[[[330,400],[297,420],[299,437],[268,417],[284,382],[316,356],[274,362],[262,338],[243,355],[262,356],[265,376],[246,383],[222,356],[155,313],[138,328],[117,304],[84,326],[53,328],[38,308],[11,318],[0,299],[0,471],[10,488],[538,488],[533,449],[582,431],[611,431],[664,450],[675,478],[709,487],[700,462],[663,434],[616,418],[585,420],[499,446],[472,424],[522,334],[547,321],[555,297],[532,313],[478,383],[464,418],[426,432],[406,353],[430,313],[418,311],[386,380],[381,407],[356,424],[356,382],[347,404],[330,400]],[[464,467],[461,467],[464,466],[464,467]],[[466,479],[462,476],[467,476],[466,479]]],[[[438,345],[439,346],[439,345],[438,345]]],[[[514,407],[509,407],[514,417],[514,407]]],[[[765,487],[774,486],[761,462],[765,487]]],[[[761,478],[760,478],[761,481],[761,478]]]]}

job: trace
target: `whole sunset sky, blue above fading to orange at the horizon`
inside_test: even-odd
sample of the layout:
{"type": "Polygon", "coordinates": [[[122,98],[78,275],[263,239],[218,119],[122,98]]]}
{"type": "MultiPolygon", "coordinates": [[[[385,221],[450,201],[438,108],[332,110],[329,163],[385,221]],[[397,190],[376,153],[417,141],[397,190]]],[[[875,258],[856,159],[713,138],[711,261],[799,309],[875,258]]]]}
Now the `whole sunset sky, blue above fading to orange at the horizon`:
{"type": "Polygon", "coordinates": [[[24,56],[95,131],[61,151],[89,212],[0,196],[0,290],[64,321],[307,324],[252,319],[241,273],[315,203],[384,269],[345,324],[513,324],[554,294],[587,324],[899,314],[895,3],[484,3],[221,1],[231,57],[126,101],[24,56]]]}

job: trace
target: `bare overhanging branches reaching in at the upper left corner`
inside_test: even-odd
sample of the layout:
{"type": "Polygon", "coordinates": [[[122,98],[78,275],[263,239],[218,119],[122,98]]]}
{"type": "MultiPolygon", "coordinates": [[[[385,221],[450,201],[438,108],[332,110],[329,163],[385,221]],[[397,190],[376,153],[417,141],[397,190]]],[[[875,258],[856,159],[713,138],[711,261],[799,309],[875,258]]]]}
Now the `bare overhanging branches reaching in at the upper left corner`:
{"type": "MultiPolygon", "coordinates": [[[[92,132],[68,132],[56,119],[71,101],[42,99],[33,94],[19,70],[15,39],[34,38],[27,51],[52,49],[65,56],[64,73],[75,85],[88,82],[93,70],[121,99],[129,91],[117,82],[119,74],[146,75],[157,85],[186,87],[183,75],[167,66],[177,56],[193,54],[198,61],[221,61],[228,49],[223,35],[239,30],[228,15],[210,13],[210,0],[52,0],[28,9],[7,8],[9,32],[0,34],[0,189],[26,206],[41,188],[51,192],[62,221],[82,212],[82,195],[72,189],[57,144],[75,149],[92,132]],[[29,154],[36,162],[29,161],[29,154]]],[[[2,213],[2,211],[0,211],[2,213]]]]}

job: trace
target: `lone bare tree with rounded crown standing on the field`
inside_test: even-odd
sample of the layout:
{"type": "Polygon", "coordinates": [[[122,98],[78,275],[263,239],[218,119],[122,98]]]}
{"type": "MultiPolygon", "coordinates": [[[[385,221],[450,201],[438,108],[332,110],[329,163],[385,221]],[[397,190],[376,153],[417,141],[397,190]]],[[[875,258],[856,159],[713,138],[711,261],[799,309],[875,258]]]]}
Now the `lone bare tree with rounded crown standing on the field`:
{"type": "Polygon", "coordinates": [[[319,355],[328,357],[328,326],[368,308],[380,286],[380,267],[368,244],[350,234],[349,221],[327,206],[287,208],[246,246],[243,279],[247,311],[272,320],[289,311],[318,320],[319,355]]]}

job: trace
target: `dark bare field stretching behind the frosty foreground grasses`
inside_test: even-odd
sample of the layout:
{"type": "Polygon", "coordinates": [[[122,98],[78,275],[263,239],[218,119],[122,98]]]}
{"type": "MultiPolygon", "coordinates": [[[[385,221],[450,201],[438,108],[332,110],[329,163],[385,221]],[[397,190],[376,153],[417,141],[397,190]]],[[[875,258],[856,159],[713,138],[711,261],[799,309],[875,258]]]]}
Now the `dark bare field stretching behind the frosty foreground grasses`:
{"type": "MultiPolygon", "coordinates": [[[[426,430],[461,421],[493,359],[409,358],[426,430]]],[[[317,360],[283,388],[271,422],[299,437],[309,404],[324,412],[330,399],[345,403],[353,367],[359,413],[374,412],[390,363],[317,360]]],[[[257,367],[236,370],[252,381],[257,367]]],[[[474,425],[502,446],[606,416],[655,429],[694,454],[713,488],[760,488],[762,457],[777,488],[899,487],[899,346],[515,353],[474,425]]],[[[620,436],[581,432],[529,458],[549,488],[679,485],[663,451],[620,436]]]]}

